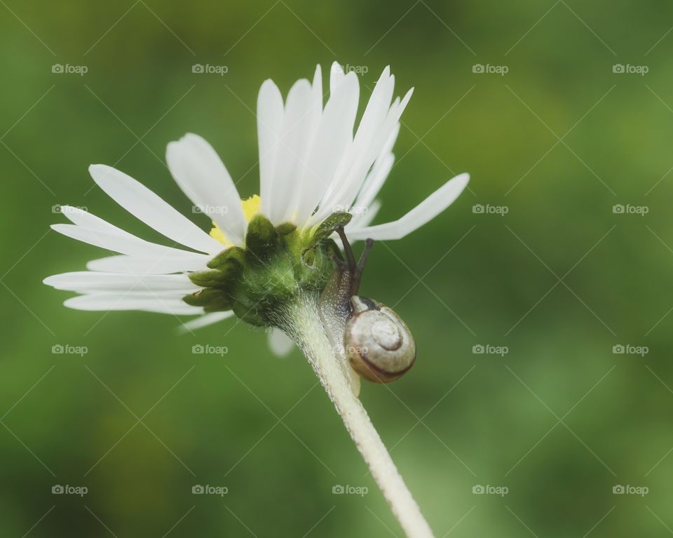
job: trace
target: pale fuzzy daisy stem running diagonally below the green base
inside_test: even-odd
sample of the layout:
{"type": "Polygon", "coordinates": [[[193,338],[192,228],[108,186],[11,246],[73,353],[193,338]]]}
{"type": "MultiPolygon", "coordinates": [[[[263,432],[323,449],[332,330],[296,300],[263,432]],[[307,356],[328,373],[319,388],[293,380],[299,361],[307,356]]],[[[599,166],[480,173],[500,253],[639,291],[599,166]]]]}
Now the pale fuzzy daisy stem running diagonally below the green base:
{"type": "Polygon", "coordinates": [[[317,297],[299,297],[288,306],[285,316],[280,325],[285,325],[283,330],[304,351],[407,537],[433,538],[433,532],[423,518],[419,505],[414,501],[367,411],[353,394],[344,376],[320,321],[317,297]]]}

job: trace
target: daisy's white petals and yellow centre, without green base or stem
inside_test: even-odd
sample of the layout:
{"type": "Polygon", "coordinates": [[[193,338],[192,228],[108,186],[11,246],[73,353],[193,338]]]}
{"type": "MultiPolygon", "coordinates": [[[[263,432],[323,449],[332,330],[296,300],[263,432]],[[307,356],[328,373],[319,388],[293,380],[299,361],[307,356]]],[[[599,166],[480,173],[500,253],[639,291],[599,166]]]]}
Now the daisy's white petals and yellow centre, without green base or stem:
{"type": "Polygon", "coordinates": [[[320,66],[313,83],[294,83],[285,103],[278,86],[265,81],[257,99],[260,196],[243,201],[224,163],[203,138],[188,134],[168,144],[168,168],[194,206],[212,220],[210,234],[129,175],[105,165],[90,166],[93,180],[111,199],[189,250],[144,241],[84,210],[62,206],[72,224],[54,224],[52,229],[118,255],[88,262],[88,271],[50,276],[44,282],[81,294],[66,300],[67,307],[200,314],[187,325],[198,328],[233,311],[184,302],[186,295],[206,287],[190,281],[189,274],[208,269],[223,250],[245,248],[255,215],[264,215],[275,227],[296,228],[307,236],[306,244],[334,213],[353,215],[346,224],[351,240],[407,236],[447,208],[468,175],[449,180],[400,219],[370,225],[381,205],[376,196],[395,160],[400,116],[413,91],[393,100],[394,85],[395,76],[386,67],[353,135],[360,97],[355,72],[344,74],[334,63],[325,105],[320,66]]]}

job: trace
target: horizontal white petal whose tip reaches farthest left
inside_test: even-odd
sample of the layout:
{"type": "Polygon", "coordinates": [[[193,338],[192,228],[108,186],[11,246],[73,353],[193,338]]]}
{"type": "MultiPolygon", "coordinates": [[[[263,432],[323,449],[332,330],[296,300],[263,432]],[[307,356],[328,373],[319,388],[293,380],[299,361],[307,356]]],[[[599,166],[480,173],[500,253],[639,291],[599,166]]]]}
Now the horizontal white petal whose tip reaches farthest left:
{"type": "Polygon", "coordinates": [[[107,291],[168,291],[193,293],[201,288],[194,285],[189,277],[175,275],[131,275],[121,273],[101,273],[96,271],[74,271],[48,276],[43,283],[57,290],[77,292],[107,291]]]}

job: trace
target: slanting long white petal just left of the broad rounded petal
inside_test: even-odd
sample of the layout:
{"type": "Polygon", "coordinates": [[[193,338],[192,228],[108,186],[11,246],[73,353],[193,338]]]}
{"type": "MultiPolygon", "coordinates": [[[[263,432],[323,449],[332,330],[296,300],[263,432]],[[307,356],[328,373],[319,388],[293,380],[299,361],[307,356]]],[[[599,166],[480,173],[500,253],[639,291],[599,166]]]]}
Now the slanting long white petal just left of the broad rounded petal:
{"type": "Polygon", "coordinates": [[[222,250],[215,239],[129,175],[103,164],[91,165],[89,173],[111,199],[160,234],[200,252],[222,250]]]}

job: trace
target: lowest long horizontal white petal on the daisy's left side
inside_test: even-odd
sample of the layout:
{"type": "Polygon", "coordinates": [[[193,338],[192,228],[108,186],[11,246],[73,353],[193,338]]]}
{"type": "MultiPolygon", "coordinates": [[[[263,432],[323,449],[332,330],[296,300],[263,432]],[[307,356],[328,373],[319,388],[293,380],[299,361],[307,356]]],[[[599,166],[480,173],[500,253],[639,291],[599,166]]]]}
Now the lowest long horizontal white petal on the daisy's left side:
{"type": "Polygon", "coordinates": [[[202,307],[192,307],[182,297],[147,293],[93,293],[72,297],[63,304],[77,310],[142,310],[176,316],[203,314],[202,307]]]}

